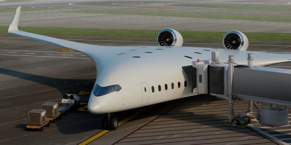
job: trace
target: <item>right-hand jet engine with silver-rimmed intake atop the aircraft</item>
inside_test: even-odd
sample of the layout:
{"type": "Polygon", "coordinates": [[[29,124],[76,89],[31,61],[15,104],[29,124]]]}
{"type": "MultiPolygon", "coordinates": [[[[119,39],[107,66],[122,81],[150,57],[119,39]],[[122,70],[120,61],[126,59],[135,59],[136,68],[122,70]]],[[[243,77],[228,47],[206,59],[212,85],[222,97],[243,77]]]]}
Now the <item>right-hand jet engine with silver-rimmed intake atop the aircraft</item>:
{"type": "Polygon", "coordinates": [[[248,38],[240,31],[227,32],[223,36],[222,43],[225,49],[247,50],[249,47],[248,38]]]}

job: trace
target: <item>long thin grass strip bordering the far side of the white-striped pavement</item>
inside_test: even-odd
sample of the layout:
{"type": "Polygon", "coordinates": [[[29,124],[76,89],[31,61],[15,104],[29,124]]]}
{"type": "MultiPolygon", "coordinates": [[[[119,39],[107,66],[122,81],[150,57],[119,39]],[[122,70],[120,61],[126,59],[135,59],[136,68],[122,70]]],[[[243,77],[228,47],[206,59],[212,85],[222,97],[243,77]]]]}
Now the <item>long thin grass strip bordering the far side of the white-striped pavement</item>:
{"type": "Polygon", "coordinates": [[[216,14],[199,12],[164,12],[164,11],[132,11],[132,10],[79,10],[69,11],[75,13],[98,13],[98,14],[131,14],[131,15],[151,15],[151,16],[176,16],[190,18],[216,18],[233,20],[255,20],[255,21],[278,21],[291,22],[291,17],[284,16],[259,16],[242,14],[216,14]]]}

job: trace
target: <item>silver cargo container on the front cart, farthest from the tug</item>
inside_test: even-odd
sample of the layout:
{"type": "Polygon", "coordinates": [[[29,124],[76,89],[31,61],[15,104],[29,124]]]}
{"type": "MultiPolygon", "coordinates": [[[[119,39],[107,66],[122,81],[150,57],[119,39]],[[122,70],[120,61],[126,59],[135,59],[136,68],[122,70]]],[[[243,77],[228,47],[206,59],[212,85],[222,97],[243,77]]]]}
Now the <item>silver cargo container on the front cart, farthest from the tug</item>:
{"type": "Polygon", "coordinates": [[[45,113],[43,109],[33,109],[28,113],[29,125],[42,125],[45,123],[45,113]]]}

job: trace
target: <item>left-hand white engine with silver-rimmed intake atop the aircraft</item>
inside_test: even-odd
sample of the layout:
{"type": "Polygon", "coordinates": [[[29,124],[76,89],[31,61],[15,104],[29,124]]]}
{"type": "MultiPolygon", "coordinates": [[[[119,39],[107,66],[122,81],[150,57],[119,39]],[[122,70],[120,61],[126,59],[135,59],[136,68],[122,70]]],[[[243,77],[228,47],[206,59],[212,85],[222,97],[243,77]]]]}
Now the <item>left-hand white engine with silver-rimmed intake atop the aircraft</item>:
{"type": "Polygon", "coordinates": [[[183,37],[174,29],[164,29],[157,36],[159,46],[182,46],[183,37]]]}

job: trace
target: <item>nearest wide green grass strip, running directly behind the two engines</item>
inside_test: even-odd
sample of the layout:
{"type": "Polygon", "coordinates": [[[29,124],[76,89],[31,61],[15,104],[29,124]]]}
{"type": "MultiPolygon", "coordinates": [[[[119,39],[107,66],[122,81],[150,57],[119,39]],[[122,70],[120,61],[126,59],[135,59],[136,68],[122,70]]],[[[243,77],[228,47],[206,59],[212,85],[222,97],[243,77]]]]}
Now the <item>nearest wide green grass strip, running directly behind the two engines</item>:
{"type": "MultiPolygon", "coordinates": [[[[8,33],[8,26],[0,26],[0,33],[8,33]]],[[[19,30],[42,35],[115,36],[156,38],[160,30],[96,29],[68,27],[19,27],[19,30]]],[[[179,31],[184,39],[222,39],[226,32],[179,31]]],[[[249,40],[291,41],[291,33],[245,32],[249,40]]]]}

